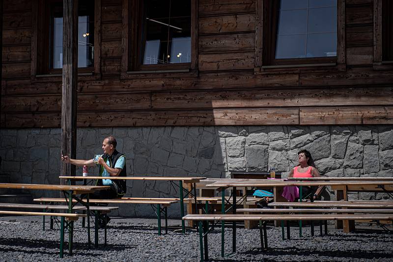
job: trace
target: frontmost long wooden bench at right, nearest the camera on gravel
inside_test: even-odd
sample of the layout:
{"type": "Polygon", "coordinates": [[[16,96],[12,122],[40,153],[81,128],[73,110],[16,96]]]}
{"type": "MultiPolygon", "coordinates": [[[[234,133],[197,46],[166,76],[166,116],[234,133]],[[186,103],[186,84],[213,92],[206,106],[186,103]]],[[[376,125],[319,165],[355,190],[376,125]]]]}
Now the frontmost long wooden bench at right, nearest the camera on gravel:
{"type": "MultiPolygon", "coordinates": [[[[199,245],[200,245],[200,261],[207,261],[208,258],[208,241],[207,241],[207,221],[243,221],[252,220],[259,221],[261,248],[267,249],[266,222],[270,220],[292,221],[292,220],[392,220],[393,214],[189,214],[184,216],[184,220],[199,221],[199,245]],[[202,221],[204,225],[202,227],[202,221]],[[263,222],[262,222],[263,221],[263,222]],[[202,232],[203,229],[203,232],[202,232]],[[204,252],[203,252],[204,251],[204,252]],[[204,254],[203,254],[204,253],[204,254]]],[[[224,257],[224,230],[221,234],[221,256],[224,257]]],[[[236,252],[236,231],[232,234],[232,251],[236,252]]]]}

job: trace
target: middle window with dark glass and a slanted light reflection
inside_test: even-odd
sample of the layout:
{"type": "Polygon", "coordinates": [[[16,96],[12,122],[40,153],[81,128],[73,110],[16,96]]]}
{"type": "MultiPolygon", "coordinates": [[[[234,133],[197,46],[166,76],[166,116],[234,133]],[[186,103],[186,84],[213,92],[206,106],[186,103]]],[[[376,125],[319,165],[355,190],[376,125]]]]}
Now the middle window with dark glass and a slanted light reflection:
{"type": "Polygon", "coordinates": [[[196,3],[196,0],[128,1],[128,15],[123,16],[123,23],[130,26],[127,34],[123,34],[126,44],[122,71],[195,69],[196,3]]]}

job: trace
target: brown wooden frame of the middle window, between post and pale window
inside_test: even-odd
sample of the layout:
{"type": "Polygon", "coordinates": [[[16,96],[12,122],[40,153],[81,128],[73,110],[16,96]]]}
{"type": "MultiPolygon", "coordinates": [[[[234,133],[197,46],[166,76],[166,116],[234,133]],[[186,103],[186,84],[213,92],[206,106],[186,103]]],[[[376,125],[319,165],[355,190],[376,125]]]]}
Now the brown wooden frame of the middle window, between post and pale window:
{"type": "Polygon", "coordinates": [[[197,71],[198,0],[191,0],[191,62],[143,65],[141,61],[143,0],[123,0],[123,33],[121,78],[135,78],[138,74],[179,73],[195,75],[197,71]]]}

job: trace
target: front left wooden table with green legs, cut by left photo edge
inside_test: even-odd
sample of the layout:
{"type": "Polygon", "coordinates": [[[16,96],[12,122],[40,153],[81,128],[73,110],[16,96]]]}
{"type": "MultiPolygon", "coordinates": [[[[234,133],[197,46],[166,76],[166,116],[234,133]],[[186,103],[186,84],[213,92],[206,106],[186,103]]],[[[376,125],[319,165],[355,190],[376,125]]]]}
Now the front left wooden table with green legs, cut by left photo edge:
{"type": "MultiPolygon", "coordinates": [[[[60,185],[60,184],[23,184],[23,183],[0,183],[0,188],[10,188],[10,189],[37,189],[37,190],[58,190],[63,192],[64,198],[68,200],[68,213],[72,213],[73,199],[77,201],[77,203],[82,204],[87,209],[87,238],[88,244],[90,246],[90,220],[89,220],[89,193],[93,193],[98,190],[106,190],[110,189],[110,186],[97,186],[97,185],[60,185]],[[86,202],[83,201],[83,198],[77,197],[76,195],[82,194],[86,196],[86,202]]],[[[73,229],[74,229],[74,221],[71,220],[69,222],[64,220],[64,217],[61,218],[61,223],[65,223],[65,227],[68,229],[68,252],[69,255],[72,255],[72,244],[73,244],[73,229]]],[[[63,239],[64,236],[61,236],[60,239],[63,239]]],[[[62,241],[60,241],[60,246],[62,247],[62,241]]],[[[62,257],[62,248],[60,248],[60,257],[62,257]]]]}

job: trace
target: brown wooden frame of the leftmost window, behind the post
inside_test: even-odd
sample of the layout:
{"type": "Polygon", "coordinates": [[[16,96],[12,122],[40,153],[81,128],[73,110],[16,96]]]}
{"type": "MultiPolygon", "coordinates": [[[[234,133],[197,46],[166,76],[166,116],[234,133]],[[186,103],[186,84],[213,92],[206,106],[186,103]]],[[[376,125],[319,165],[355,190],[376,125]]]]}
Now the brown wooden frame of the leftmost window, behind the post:
{"type": "MultiPolygon", "coordinates": [[[[61,0],[37,0],[33,1],[33,35],[31,40],[31,77],[61,77],[62,68],[50,68],[51,34],[50,26],[51,6],[61,0]]],[[[101,0],[94,0],[94,63],[90,67],[78,68],[78,75],[82,78],[101,78],[101,0]]]]}

